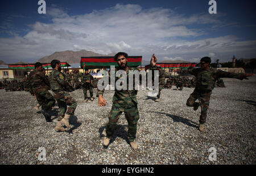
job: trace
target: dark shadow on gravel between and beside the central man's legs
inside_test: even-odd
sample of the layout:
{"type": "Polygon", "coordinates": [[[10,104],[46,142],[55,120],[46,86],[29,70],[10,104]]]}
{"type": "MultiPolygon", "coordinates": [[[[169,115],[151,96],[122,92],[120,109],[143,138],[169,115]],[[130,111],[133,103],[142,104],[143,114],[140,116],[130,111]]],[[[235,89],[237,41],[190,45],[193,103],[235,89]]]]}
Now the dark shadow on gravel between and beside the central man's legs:
{"type": "MultiPolygon", "coordinates": [[[[103,131],[104,131],[105,128],[106,128],[106,126],[103,126],[103,127],[100,127],[98,129],[98,132],[100,134],[100,138],[105,137],[105,135],[103,134],[103,131]]],[[[127,144],[130,144],[130,141],[128,140],[128,134],[127,134],[127,131],[125,130],[125,128],[128,128],[128,126],[127,125],[117,125],[117,126],[115,126],[115,131],[114,131],[114,134],[112,135],[112,138],[109,141],[109,145],[112,144],[117,137],[124,139],[127,144]]],[[[109,145],[108,146],[103,146],[103,147],[105,149],[107,149],[109,147],[109,145]]]]}

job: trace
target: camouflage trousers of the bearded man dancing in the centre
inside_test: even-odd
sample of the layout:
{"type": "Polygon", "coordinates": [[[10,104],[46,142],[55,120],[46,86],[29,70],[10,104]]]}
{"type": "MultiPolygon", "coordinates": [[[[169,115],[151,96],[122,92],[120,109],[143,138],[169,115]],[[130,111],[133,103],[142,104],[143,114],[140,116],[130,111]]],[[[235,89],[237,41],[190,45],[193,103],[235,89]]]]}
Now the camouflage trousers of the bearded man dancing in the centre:
{"type": "Polygon", "coordinates": [[[128,122],[128,140],[134,141],[137,133],[137,122],[139,120],[139,111],[137,105],[131,108],[123,108],[119,104],[113,104],[109,114],[109,123],[106,126],[106,136],[110,138],[113,135],[117,121],[122,114],[125,113],[125,118],[128,122]]]}

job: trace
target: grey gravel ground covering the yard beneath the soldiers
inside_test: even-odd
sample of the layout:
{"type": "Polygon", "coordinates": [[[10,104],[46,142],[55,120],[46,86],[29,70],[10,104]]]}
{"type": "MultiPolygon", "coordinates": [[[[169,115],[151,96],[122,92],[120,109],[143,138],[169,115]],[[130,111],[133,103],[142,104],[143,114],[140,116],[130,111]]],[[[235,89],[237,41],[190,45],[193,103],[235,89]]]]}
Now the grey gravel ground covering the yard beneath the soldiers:
{"type": "Polygon", "coordinates": [[[256,76],[224,82],[226,88],[213,90],[204,132],[197,130],[200,109],[185,105],[192,88],[163,89],[160,102],[139,91],[137,150],[127,143],[123,114],[114,140],[102,145],[114,91],[105,91],[105,107],[97,99],[82,102],[81,89],[72,92],[78,102],[73,128],[55,132],[57,105],[47,123],[28,92],[0,90],[0,164],[256,164],[256,76]],[[46,161],[38,160],[39,147],[46,149],[46,161]],[[211,147],[216,161],[209,161],[211,147]]]}

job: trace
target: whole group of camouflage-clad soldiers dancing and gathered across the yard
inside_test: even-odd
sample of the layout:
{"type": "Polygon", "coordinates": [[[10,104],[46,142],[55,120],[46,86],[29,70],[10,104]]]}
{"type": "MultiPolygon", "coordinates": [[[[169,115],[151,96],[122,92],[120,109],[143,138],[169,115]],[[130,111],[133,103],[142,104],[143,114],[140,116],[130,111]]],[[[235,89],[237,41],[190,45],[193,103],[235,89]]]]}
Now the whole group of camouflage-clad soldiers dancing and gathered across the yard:
{"type": "MultiPolygon", "coordinates": [[[[114,61],[117,62],[118,67],[115,72],[121,70],[125,71],[127,78],[129,78],[130,71],[138,71],[138,68],[129,67],[127,65],[127,53],[119,52],[115,54],[114,61]]],[[[172,85],[176,85],[177,89],[182,90],[185,87],[195,87],[193,93],[189,96],[186,105],[193,107],[193,110],[197,110],[201,107],[201,115],[199,120],[199,130],[203,131],[203,124],[206,122],[207,110],[209,108],[210,95],[212,95],[212,90],[215,85],[224,85],[220,78],[236,78],[236,79],[247,79],[247,77],[253,74],[234,74],[230,72],[224,72],[216,70],[215,68],[209,67],[210,58],[204,57],[200,60],[199,68],[188,68],[188,69],[173,69],[174,72],[191,74],[195,78],[189,79],[187,77],[177,77],[169,78],[165,83],[164,71],[160,66],[156,65],[157,58],[155,54],[152,55],[150,61],[150,70],[159,70],[159,84],[158,95],[156,102],[159,101],[160,91],[162,88],[171,88],[172,85]],[[196,102],[199,100],[199,102],[196,102]]],[[[97,87],[97,80],[89,74],[88,70],[85,70],[84,74],[80,74],[79,71],[73,71],[72,74],[69,70],[65,70],[65,73],[61,72],[60,61],[53,60],[51,62],[51,67],[53,71],[46,76],[45,69],[42,68],[42,63],[35,63],[35,70],[31,71],[30,74],[21,81],[20,85],[23,85],[23,89],[29,91],[32,96],[36,97],[38,104],[42,106],[42,114],[46,118],[47,122],[51,122],[51,111],[55,102],[59,106],[59,113],[56,122],[56,131],[67,131],[67,128],[71,128],[69,125],[69,117],[75,113],[77,102],[69,92],[75,91],[75,89],[82,88],[84,90],[85,102],[88,101],[87,91],[90,93],[90,100],[93,101],[93,87],[97,87]],[[81,80],[81,81],[80,81],[81,80]],[[49,92],[52,91],[52,94],[49,92]],[[64,128],[67,127],[67,128],[64,128]]],[[[110,80],[109,74],[109,80],[110,80]]],[[[121,76],[122,77],[122,76],[121,76]]],[[[120,78],[121,78],[120,77],[120,78]]],[[[154,77],[154,76],[153,76],[154,77]]],[[[115,83],[118,81],[118,77],[115,77],[115,83]]],[[[133,78],[133,83],[135,78],[133,78]]],[[[148,81],[148,80],[147,80],[148,81]]],[[[4,81],[3,84],[6,84],[4,81]]],[[[19,90],[18,82],[12,81],[10,85],[13,85],[11,90],[19,90]]],[[[129,84],[126,84],[126,86],[129,84]]],[[[1,85],[2,86],[2,85],[1,85]]],[[[131,148],[137,149],[137,144],[135,143],[136,133],[137,133],[137,123],[139,120],[139,110],[137,93],[138,90],[135,89],[135,84],[133,89],[115,89],[113,96],[112,109],[109,113],[109,122],[106,125],[106,136],[104,138],[104,146],[107,147],[110,143],[112,135],[115,131],[117,121],[122,113],[125,113],[125,117],[128,122],[128,140],[130,141],[131,148]]],[[[9,87],[9,84],[8,86],[9,87]]],[[[104,99],[104,89],[97,90],[98,105],[106,106],[106,100],[104,99]]],[[[156,105],[157,106],[157,105],[156,105]]]]}

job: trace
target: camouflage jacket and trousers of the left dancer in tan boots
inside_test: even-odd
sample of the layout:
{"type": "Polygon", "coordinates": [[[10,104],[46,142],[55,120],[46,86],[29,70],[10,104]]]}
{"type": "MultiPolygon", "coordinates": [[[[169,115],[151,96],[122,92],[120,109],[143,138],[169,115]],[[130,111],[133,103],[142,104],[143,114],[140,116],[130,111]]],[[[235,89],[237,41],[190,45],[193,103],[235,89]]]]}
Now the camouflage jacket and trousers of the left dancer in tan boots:
{"type": "Polygon", "coordinates": [[[73,115],[76,110],[77,102],[67,92],[74,91],[73,87],[71,87],[67,81],[65,81],[63,74],[57,70],[53,70],[49,74],[49,83],[51,85],[53,97],[57,101],[60,108],[57,121],[61,121],[61,119],[64,118],[65,113],[68,115],[73,115]]]}

